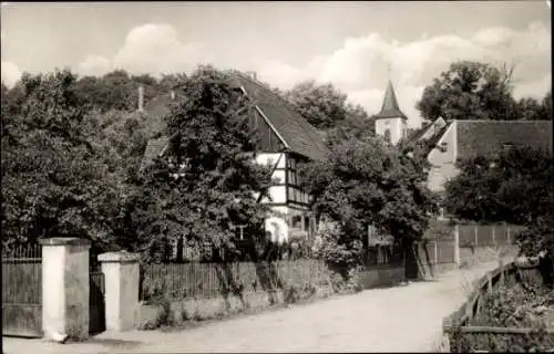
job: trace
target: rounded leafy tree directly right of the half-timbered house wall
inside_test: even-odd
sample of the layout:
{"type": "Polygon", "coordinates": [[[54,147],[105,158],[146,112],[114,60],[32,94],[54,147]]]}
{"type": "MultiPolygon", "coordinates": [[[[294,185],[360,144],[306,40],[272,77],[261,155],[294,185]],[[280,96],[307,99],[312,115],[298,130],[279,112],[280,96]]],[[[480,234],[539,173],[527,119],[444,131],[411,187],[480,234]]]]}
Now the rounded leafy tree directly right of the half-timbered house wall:
{"type": "Polygon", "coordinates": [[[316,214],[338,226],[322,249],[338,266],[361,264],[369,226],[408,249],[437,211],[425,166],[377,139],[337,144],[328,159],[302,165],[300,176],[316,214]]]}

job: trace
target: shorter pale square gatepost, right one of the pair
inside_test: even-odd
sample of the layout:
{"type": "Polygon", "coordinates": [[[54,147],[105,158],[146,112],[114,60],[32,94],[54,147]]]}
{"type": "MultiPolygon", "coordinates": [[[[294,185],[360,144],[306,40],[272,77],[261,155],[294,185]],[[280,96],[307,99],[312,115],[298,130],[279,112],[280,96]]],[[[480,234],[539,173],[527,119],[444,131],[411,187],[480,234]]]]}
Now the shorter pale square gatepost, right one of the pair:
{"type": "Polygon", "coordinates": [[[99,256],[105,282],[105,327],[126,331],[138,325],[138,258],[136,253],[99,256]]]}

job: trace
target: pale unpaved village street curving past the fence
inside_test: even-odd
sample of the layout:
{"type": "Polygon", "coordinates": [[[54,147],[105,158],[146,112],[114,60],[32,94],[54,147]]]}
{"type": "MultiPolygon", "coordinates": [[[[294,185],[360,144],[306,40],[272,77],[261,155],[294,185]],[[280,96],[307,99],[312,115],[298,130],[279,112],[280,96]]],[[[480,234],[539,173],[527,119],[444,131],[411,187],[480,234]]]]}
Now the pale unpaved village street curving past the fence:
{"type": "Polygon", "coordinates": [[[209,323],[179,332],[103,333],[81,344],[3,337],[4,354],[207,352],[431,352],[442,319],[469,283],[497,267],[483,263],[416,282],[312,304],[209,323]]]}

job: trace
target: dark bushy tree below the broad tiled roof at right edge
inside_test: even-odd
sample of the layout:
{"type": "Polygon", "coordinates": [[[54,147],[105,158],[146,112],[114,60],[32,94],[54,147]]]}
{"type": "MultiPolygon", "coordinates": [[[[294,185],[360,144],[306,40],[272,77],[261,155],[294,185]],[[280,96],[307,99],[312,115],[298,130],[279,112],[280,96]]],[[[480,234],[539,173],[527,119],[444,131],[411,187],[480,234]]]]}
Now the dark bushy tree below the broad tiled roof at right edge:
{"type": "Polygon", "coordinates": [[[447,211],[458,218],[529,225],[554,206],[552,157],[542,149],[513,147],[462,160],[459,168],[445,184],[447,211]]]}

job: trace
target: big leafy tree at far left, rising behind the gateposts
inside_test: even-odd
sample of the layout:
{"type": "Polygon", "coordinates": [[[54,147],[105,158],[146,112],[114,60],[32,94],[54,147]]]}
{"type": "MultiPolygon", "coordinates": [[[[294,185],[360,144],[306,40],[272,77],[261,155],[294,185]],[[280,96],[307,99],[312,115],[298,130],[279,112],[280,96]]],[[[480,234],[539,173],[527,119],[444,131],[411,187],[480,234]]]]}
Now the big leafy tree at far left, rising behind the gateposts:
{"type": "Polygon", "coordinates": [[[96,126],[69,71],[23,75],[21,107],[2,110],[2,244],[84,237],[116,249],[120,188],[91,144],[96,126]],[[9,133],[9,134],[4,134],[9,133]]]}

